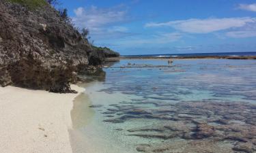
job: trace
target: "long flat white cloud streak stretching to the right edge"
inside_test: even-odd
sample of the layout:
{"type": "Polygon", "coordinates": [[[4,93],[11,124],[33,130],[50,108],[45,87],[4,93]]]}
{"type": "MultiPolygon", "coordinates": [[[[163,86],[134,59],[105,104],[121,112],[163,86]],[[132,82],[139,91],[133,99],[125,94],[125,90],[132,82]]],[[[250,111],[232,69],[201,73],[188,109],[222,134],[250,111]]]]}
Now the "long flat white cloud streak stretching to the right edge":
{"type": "Polygon", "coordinates": [[[231,28],[244,27],[247,23],[256,22],[256,18],[207,18],[174,20],[169,22],[150,22],[145,27],[173,27],[187,33],[211,33],[231,28]]]}

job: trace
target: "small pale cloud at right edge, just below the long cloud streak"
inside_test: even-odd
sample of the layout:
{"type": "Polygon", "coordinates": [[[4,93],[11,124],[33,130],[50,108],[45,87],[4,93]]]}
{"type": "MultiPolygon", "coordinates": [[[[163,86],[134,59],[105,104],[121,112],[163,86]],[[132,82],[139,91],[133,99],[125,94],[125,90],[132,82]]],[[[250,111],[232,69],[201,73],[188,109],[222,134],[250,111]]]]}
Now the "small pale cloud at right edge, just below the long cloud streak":
{"type": "Polygon", "coordinates": [[[233,38],[256,37],[256,31],[229,31],[226,35],[233,38]]]}

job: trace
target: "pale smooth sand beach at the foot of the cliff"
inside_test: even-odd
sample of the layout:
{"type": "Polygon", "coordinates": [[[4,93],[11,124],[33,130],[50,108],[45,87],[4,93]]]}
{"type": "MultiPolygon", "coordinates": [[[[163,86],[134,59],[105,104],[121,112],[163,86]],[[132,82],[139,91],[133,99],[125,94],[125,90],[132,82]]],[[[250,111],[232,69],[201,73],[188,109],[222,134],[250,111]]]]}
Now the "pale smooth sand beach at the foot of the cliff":
{"type": "MultiPolygon", "coordinates": [[[[72,89],[84,90],[74,85],[72,89]]],[[[77,95],[0,87],[0,152],[72,152],[68,130],[77,95]]]]}

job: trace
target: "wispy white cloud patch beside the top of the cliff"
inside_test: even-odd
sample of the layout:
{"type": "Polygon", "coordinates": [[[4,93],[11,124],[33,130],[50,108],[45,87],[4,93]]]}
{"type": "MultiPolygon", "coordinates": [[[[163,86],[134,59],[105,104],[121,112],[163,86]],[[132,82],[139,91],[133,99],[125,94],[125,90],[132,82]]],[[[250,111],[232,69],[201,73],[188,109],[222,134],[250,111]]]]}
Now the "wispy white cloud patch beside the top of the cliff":
{"type": "Polygon", "coordinates": [[[130,20],[126,5],[109,8],[78,7],[74,10],[74,14],[72,18],[74,24],[80,28],[88,28],[93,39],[117,39],[137,35],[130,33],[126,27],[117,26],[130,20]]]}

